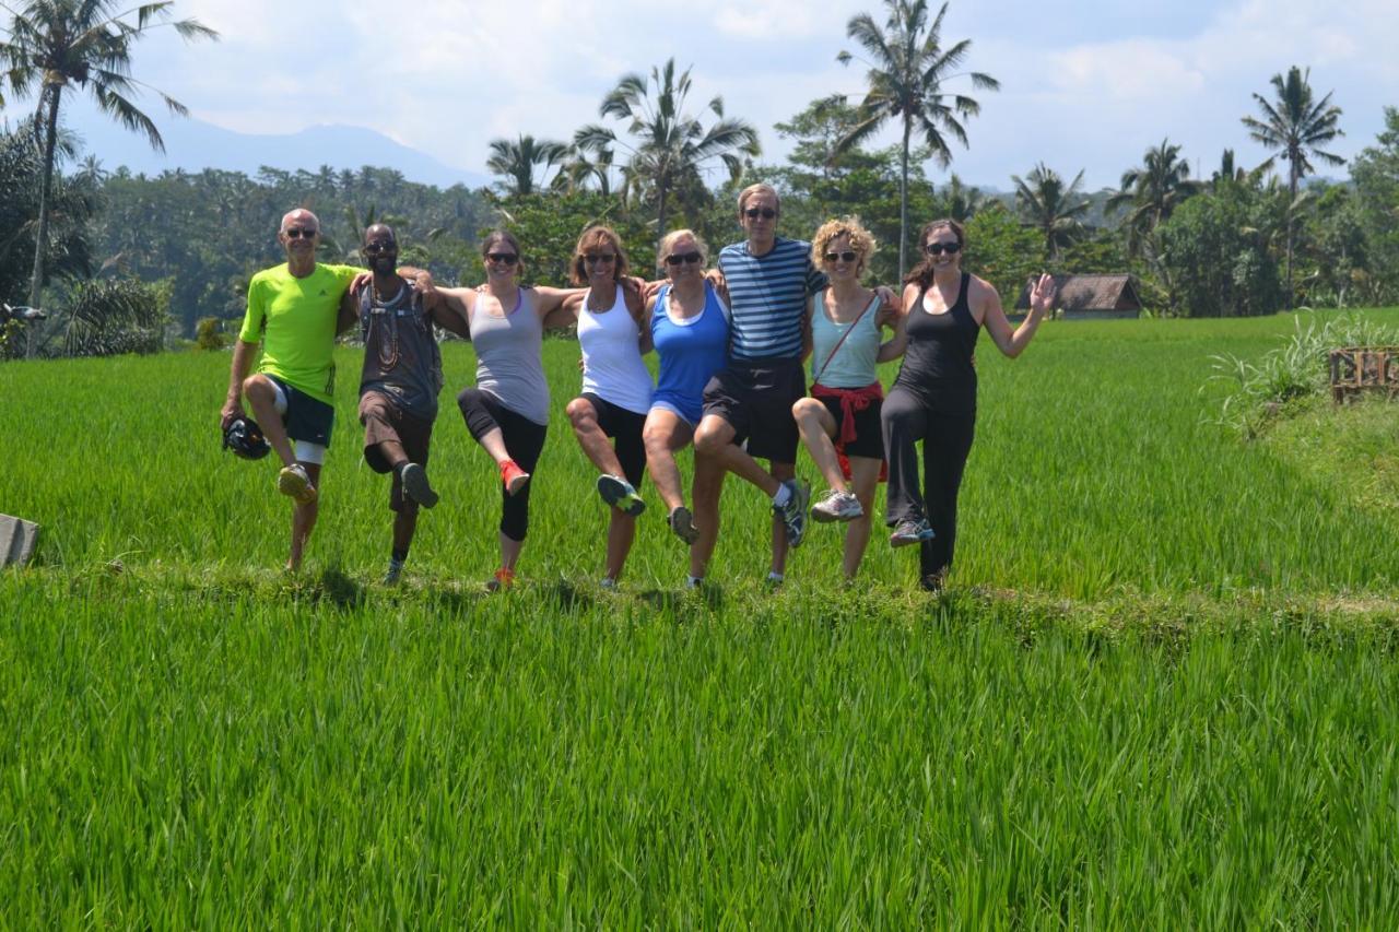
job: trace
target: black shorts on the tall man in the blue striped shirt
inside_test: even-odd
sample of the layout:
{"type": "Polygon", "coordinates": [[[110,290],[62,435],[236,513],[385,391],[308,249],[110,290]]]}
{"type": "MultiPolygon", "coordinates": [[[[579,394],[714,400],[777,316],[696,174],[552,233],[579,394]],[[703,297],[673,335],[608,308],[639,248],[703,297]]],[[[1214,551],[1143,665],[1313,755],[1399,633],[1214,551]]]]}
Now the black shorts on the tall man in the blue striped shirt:
{"type": "Polygon", "coordinates": [[[792,406],[806,397],[800,360],[729,362],[704,386],[705,416],[733,428],[733,442],[748,441],[748,456],[796,463],[797,430],[792,406]]]}

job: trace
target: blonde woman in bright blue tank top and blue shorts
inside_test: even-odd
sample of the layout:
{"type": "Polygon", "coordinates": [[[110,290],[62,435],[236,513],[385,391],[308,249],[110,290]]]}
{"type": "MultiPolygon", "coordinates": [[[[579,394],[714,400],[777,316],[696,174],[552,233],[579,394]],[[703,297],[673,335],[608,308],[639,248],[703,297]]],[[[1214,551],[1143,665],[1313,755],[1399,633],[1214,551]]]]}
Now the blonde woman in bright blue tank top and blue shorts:
{"type": "Polygon", "coordinates": [[[704,241],[688,230],[665,235],[658,264],[667,283],[651,311],[651,340],[660,357],[660,374],[651,397],[642,441],[646,467],[666,502],[670,530],[690,544],[688,585],[704,578],[719,536],[719,487],[723,469],[706,456],[695,456],[691,497],[686,507],[676,452],[693,439],[704,406],[704,386],[729,357],[729,308],[705,280],[704,241]]]}

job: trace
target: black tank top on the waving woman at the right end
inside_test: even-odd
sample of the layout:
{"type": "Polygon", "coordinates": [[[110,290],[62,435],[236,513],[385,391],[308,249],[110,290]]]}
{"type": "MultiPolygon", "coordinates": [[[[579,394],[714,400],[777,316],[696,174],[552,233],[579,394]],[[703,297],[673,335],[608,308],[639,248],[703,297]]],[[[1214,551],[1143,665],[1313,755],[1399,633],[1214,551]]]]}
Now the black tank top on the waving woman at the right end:
{"type": "Polygon", "coordinates": [[[977,369],[971,364],[981,327],[967,304],[971,274],[963,273],[957,302],[943,313],[923,309],[928,290],[908,309],[908,350],[894,386],[918,395],[930,410],[975,414],[977,369]]]}

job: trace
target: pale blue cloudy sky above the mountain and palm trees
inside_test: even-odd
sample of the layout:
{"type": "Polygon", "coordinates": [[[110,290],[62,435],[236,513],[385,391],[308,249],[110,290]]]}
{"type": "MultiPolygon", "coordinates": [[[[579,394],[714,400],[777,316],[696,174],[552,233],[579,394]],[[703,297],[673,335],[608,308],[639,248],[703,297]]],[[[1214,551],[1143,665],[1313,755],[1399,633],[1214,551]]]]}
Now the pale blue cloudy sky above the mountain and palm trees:
{"type": "MultiPolygon", "coordinates": [[[[222,41],[185,46],[166,31],[140,48],[137,71],[199,119],[245,133],[368,126],[473,172],[484,172],[488,140],[568,139],[597,119],[621,74],[670,56],[693,66],[697,106],[723,95],[730,115],[760,127],[765,160],[779,161],[788,144],[775,122],[816,97],[862,88],[859,66],[835,62],[853,50],[845,22],[859,11],[883,20],[870,0],[178,0],[175,8],[222,41]]],[[[968,66],[1003,90],[977,94],[982,115],[951,171],[1000,189],[1039,160],[1066,175],[1084,169],[1090,189],[1114,185],[1163,137],[1206,175],[1226,147],[1256,164],[1265,153],[1240,118],[1255,109],[1249,94],[1266,94],[1269,77],[1294,63],[1309,66],[1314,88],[1333,91],[1343,108],[1346,136],[1332,147],[1343,157],[1374,141],[1384,105],[1399,105],[1393,0],[954,0],[944,39],[963,38],[972,39],[968,66]]],[[[101,155],[111,130],[88,108],[71,115],[101,155]]]]}

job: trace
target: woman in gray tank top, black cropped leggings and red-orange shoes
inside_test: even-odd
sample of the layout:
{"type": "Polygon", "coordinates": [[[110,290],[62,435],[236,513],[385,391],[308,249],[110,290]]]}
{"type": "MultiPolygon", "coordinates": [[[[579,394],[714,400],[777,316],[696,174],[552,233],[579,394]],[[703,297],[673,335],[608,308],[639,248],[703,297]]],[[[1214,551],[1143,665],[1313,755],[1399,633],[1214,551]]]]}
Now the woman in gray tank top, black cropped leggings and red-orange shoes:
{"type": "Polygon", "coordinates": [[[530,473],[544,449],[548,428],[548,382],[540,357],[544,327],[567,327],[564,301],[575,288],[527,288],[519,284],[520,248],[495,230],[481,242],[485,284],[435,288],[471,329],[476,388],[456,403],[471,437],[501,470],[501,565],[487,584],[509,588],[529,530],[530,473]]]}

